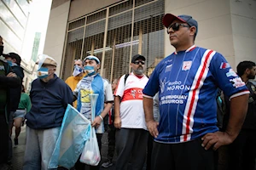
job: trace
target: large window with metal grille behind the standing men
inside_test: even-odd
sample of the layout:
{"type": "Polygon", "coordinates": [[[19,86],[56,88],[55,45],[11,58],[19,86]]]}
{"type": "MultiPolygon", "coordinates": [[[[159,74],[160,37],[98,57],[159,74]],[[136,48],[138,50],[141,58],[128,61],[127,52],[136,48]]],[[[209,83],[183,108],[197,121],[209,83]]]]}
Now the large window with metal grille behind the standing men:
{"type": "Polygon", "coordinates": [[[93,54],[98,57],[102,65],[102,77],[113,81],[128,73],[130,56],[143,54],[146,60],[145,74],[148,76],[164,56],[164,35],[162,24],[165,12],[165,0],[136,0],[134,14],[132,14],[133,0],[124,1],[87,17],[85,29],[84,19],[69,24],[67,34],[66,53],[62,71],[62,78],[72,74],[73,59],[93,54]],[[132,23],[132,16],[134,22],[132,23]],[[107,40],[104,46],[106,20],[108,21],[107,40]],[[79,28],[73,30],[75,28],[79,28]],[[132,30],[133,28],[133,30],[132,30]],[[85,32],[84,32],[85,30],[85,32]],[[83,52],[82,48],[83,47],[83,52]],[[105,47],[105,48],[103,48],[105,47]],[[132,48],[132,50],[131,50],[132,48]],[[102,56],[103,50],[105,55],[102,56]]]}

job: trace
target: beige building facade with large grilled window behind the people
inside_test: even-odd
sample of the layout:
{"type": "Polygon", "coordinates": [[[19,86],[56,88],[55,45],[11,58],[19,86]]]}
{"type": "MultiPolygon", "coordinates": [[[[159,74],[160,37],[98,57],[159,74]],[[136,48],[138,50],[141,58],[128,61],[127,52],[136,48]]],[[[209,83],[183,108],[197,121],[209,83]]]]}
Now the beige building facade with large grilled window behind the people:
{"type": "Polygon", "coordinates": [[[149,76],[174,51],[162,25],[166,13],[192,15],[199,24],[195,45],[224,54],[234,68],[256,61],[254,0],[53,0],[44,54],[57,60],[64,80],[73,60],[90,54],[101,59],[109,81],[131,71],[134,54],[145,56],[149,76]]]}

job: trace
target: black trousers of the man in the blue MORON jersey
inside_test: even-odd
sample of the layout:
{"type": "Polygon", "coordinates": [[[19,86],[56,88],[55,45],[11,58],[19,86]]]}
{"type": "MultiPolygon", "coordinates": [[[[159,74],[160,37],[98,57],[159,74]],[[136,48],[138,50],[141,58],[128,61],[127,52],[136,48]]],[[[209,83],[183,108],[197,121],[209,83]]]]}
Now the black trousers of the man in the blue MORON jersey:
{"type": "Polygon", "coordinates": [[[180,144],[153,143],[152,170],[214,170],[214,151],[201,147],[201,138],[180,144]]]}

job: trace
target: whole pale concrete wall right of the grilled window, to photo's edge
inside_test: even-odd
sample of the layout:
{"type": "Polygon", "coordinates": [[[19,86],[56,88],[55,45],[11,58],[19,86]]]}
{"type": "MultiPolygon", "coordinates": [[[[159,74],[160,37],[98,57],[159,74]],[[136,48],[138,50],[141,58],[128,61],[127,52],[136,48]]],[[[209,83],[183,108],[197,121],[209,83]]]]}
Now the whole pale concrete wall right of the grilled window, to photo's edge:
{"type": "MultiPolygon", "coordinates": [[[[223,54],[234,69],[241,60],[256,61],[255,0],[166,0],[166,13],[192,15],[199,25],[195,45],[223,54]]],[[[165,42],[171,54],[167,34],[165,42]]]]}

